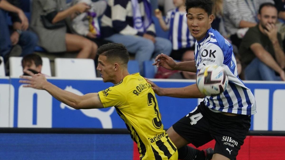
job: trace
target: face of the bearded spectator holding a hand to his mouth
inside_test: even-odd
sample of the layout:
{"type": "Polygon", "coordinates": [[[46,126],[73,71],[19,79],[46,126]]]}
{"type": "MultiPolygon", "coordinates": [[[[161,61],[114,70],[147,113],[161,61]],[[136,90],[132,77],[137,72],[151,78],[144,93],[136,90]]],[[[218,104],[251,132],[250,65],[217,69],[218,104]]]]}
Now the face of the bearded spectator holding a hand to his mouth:
{"type": "Polygon", "coordinates": [[[260,14],[258,14],[258,19],[262,28],[266,29],[268,24],[276,24],[277,22],[277,9],[274,7],[264,6],[260,14]]]}

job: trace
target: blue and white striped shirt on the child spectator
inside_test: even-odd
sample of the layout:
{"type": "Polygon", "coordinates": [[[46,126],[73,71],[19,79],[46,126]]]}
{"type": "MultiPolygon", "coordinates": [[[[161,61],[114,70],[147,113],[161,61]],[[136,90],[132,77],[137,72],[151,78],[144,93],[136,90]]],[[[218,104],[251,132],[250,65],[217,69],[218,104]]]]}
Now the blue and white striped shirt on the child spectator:
{"type": "Polygon", "coordinates": [[[169,28],[169,40],[173,50],[194,46],[195,38],[189,32],[186,11],[180,12],[178,8],[168,11],[165,22],[169,28]]]}

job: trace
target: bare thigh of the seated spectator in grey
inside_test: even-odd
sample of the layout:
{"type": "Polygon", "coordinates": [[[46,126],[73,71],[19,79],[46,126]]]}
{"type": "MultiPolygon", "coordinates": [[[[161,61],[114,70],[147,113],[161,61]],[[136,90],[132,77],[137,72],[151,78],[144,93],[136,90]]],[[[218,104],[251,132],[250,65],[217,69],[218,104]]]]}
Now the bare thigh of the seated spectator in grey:
{"type": "Polygon", "coordinates": [[[79,51],[85,46],[92,48],[92,41],[76,34],[65,34],[65,42],[67,51],[79,51]]]}

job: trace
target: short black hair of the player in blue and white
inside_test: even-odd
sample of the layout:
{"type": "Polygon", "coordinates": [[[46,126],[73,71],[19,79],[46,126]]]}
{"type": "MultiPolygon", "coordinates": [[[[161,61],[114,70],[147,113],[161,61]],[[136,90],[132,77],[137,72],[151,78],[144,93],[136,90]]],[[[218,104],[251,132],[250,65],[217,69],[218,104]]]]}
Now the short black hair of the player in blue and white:
{"type": "Polygon", "coordinates": [[[190,8],[201,8],[204,9],[209,16],[212,14],[213,2],[212,0],[186,0],[185,6],[187,13],[190,8]]]}

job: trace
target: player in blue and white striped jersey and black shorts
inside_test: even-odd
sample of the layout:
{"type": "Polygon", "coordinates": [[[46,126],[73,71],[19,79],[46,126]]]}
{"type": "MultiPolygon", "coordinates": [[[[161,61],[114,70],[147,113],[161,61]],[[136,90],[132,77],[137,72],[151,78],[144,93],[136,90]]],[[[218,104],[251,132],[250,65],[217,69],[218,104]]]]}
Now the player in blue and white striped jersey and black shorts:
{"type": "Polygon", "coordinates": [[[178,148],[179,159],[205,159],[198,151],[187,147],[192,143],[199,147],[215,140],[214,160],[236,159],[250,128],[251,115],[256,113],[255,98],[237,75],[237,64],[231,44],[221,34],[211,28],[211,0],[186,0],[187,24],[196,38],[195,60],[174,62],[161,54],[154,65],[166,69],[198,72],[208,64],[222,66],[229,85],[217,96],[202,95],[196,84],[183,88],[160,88],[152,84],[158,95],[180,98],[204,98],[192,112],[181,118],[167,131],[178,148]]]}

